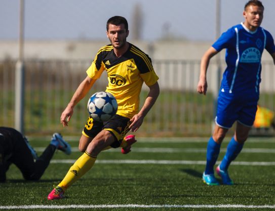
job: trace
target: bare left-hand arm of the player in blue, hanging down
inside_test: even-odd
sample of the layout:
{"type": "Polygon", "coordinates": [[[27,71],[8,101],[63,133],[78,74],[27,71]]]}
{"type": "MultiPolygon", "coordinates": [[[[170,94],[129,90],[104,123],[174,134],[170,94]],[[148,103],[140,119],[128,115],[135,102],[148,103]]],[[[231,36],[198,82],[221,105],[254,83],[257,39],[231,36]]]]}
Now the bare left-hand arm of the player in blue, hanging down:
{"type": "Polygon", "coordinates": [[[197,87],[197,91],[200,94],[206,95],[207,92],[207,80],[206,80],[206,72],[207,68],[210,62],[210,59],[216,55],[218,51],[214,49],[213,47],[210,47],[205,54],[203,55],[201,59],[201,73],[200,73],[200,79],[197,87]]]}

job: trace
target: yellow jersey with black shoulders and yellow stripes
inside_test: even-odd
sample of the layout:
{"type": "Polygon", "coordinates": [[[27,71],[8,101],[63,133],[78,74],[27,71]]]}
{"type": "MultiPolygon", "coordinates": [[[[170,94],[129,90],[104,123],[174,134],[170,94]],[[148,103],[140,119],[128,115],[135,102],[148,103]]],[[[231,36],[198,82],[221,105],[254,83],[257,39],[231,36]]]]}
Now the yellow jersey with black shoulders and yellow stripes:
{"type": "Polygon", "coordinates": [[[121,57],[116,57],[111,44],[102,47],[86,72],[89,77],[98,79],[104,70],[108,75],[106,92],[111,93],[118,104],[116,114],[127,118],[139,111],[143,82],[152,86],[159,79],[149,56],[132,44],[121,57]]]}

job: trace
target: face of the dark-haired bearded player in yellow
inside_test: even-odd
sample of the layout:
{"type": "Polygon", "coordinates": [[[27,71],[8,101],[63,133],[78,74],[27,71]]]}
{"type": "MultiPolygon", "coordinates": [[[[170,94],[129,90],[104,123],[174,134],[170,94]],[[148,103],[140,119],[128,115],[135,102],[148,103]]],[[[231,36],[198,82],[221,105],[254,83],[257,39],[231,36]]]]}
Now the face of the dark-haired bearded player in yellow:
{"type": "Polygon", "coordinates": [[[126,44],[126,37],[129,34],[129,30],[125,29],[124,24],[113,25],[109,24],[107,37],[109,38],[113,48],[121,49],[126,44]]]}

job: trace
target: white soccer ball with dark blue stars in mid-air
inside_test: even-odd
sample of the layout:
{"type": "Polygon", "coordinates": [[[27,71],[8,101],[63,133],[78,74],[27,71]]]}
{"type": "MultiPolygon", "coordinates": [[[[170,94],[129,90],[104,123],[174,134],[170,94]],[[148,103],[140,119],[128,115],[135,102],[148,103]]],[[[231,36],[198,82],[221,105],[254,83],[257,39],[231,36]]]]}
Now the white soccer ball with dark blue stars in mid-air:
{"type": "Polygon", "coordinates": [[[117,111],[117,102],[108,92],[97,92],[88,101],[88,112],[95,121],[107,121],[117,111]]]}

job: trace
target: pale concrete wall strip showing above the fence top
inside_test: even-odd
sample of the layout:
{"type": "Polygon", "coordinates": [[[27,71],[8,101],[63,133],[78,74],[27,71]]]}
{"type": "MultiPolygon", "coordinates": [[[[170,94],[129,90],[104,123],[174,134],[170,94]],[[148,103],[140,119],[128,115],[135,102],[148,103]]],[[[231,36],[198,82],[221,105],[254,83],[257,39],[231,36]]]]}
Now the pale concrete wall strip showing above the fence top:
{"type": "MultiPolygon", "coordinates": [[[[194,41],[130,41],[155,60],[200,60],[212,42],[194,41]]],[[[27,40],[24,44],[26,59],[80,59],[92,60],[100,47],[109,40],[27,40]]],[[[18,58],[18,41],[0,40],[0,60],[18,58]]],[[[220,58],[224,58],[224,50],[220,58]]],[[[263,61],[271,60],[265,51],[263,61]]]]}

